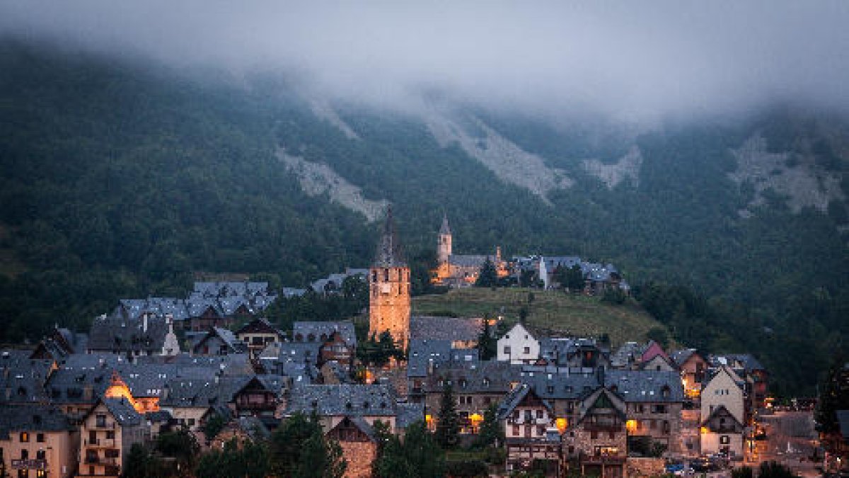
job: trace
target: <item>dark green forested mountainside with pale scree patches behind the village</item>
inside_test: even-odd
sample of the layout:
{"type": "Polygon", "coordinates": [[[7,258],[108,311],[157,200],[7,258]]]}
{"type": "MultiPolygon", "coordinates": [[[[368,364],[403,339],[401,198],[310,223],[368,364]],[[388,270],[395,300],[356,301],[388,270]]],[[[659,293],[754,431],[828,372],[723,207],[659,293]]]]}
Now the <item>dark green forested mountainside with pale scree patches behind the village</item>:
{"type": "Polygon", "coordinates": [[[811,393],[846,350],[846,118],[448,120],[8,41],[0,71],[0,341],[180,295],[197,272],[304,286],[368,264],[376,225],[305,190],[285,154],[392,202],[419,270],[444,212],[459,253],[613,262],[678,342],[754,352],[783,390],[811,393]],[[559,182],[533,191],[501,153],[559,182]]]}

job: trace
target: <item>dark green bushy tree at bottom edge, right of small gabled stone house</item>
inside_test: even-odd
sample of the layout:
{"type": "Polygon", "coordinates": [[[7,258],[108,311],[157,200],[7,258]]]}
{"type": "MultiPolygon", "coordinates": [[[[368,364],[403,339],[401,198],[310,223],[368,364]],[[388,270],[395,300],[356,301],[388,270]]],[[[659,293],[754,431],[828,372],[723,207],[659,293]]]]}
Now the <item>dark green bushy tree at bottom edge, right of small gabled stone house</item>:
{"type": "Polygon", "coordinates": [[[446,474],[445,452],[419,421],[407,427],[403,441],[386,436],[372,468],[378,478],[441,478],[446,474]]]}

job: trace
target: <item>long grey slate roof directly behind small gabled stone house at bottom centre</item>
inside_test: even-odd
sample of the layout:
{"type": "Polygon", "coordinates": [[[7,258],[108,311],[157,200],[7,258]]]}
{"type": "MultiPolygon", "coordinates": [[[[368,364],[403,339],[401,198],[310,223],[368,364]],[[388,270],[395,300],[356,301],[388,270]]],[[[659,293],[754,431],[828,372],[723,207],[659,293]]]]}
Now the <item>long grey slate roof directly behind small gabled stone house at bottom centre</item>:
{"type": "Polygon", "coordinates": [[[292,390],[288,414],[329,416],[394,416],[396,394],[388,384],[297,385],[292,390]]]}

